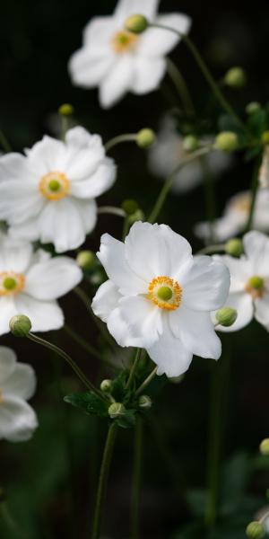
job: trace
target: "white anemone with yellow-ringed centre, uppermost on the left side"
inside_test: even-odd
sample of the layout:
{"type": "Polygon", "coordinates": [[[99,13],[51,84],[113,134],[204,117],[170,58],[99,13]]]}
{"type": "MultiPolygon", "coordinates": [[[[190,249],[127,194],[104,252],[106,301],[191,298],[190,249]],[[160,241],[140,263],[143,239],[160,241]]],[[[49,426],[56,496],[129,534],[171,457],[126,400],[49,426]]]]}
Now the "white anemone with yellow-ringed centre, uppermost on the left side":
{"type": "Polygon", "coordinates": [[[25,154],[0,158],[0,220],[15,237],[76,249],[95,226],[95,198],[115,181],[114,162],[101,138],[81,127],[65,142],[43,137],[25,154]]]}

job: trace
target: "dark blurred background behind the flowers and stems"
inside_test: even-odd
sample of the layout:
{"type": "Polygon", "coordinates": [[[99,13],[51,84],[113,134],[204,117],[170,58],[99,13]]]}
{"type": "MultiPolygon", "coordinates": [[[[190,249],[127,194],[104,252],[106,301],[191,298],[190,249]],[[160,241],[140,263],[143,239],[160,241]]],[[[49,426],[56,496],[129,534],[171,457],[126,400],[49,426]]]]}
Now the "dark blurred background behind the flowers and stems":
{"type": "MultiPolygon", "coordinates": [[[[92,16],[111,13],[115,4],[106,0],[76,0],[75,3],[8,0],[2,4],[0,126],[15,150],[31,146],[45,132],[54,135],[56,110],[63,102],[71,102],[77,122],[91,132],[100,133],[104,141],[143,127],[158,128],[161,115],[169,108],[163,92],[143,97],[130,94],[113,109],[101,110],[97,91],[73,87],[67,74],[67,61],[81,46],[82,28],[92,16]]],[[[192,39],[217,80],[230,66],[246,69],[247,88],[227,91],[240,114],[245,114],[247,102],[267,102],[268,2],[165,0],[161,2],[161,11],[180,11],[192,17],[192,39]]],[[[180,44],[171,57],[185,75],[199,109],[208,98],[208,88],[193,58],[184,44],[180,44]]],[[[168,82],[165,80],[164,84],[168,82]]],[[[118,206],[123,199],[134,198],[148,212],[161,189],[161,182],[147,171],[146,154],[130,144],[115,148],[113,156],[118,166],[117,184],[100,199],[100,204],[118,206]]],[[[239,156],[234,167],[223,173],[218,182],[219,214],[231,194],[248,188],[250,177],[251,164],[242,162],[239,156]]],[[[169,196],[161,214],[161,221],[185,235],[195,250],[201,244],[194,237],[193,225],[203,218],[202,187],[184,196],[169,196]]],[[[122,223],[117,219],[100,216],[87,246],[97,250],[103,232],[120,237],[122,223]]],[[[78,299],[70,295],[62,305],[67,322],[97,343],[96,331],[78,299]]],[[[64,332],[48,338],[70,349],[93,379],[111,374],[106,371],[100,374],[96,360],[77,349],[64,332]]],[[[225,484],[230,492],[239,488],[242,503],[237,516],[241,520],[238,528],[232,525],[223,532],[220,527],[222,535],[210,536],[240,539],[245,536],[244,526],[259,507],[260,497],[263,500],[269,481],[268,472],[254,470],[256,460],[252,459],[260,440],[269,435],[268,335],[261,326],[252,323],[250,328],[231,334],[229,342],[232,349],[229,427],[222,453],[224,462],[233,463],[225,484]]],[[[37,434],[29,443],[1,443],[0,482],[7,490],[10,508],[19,523],[18,529],[7,529],[3,525],[2,531],[0,527],[1,537],[87,537],[100,447],[107,426],[63,403],[65,393],[80,387],[57,358],[49,358],[48,353],[36,345],[14,341],[9,336],[1,338],[1,344],[12,346],[20,360],[30,361],[36,368],[39,389],[33,405],[40,422],[37,434]],[[59,377],[64,380],[61,387],[56,381],[59,377]],[[70,498],[71,477],[74,478],[74,500],[70,498]]],[[[178,385],[166,384],[154,406],[154,427],[146,429],[145,435],[142,539],[202,537],[199,531],[184,535],[186,532],[180,530],[194,519],[194,513],[199,520],[203,508],[204,493],[200,489],[205,482],[209,379],[214,367],[209,360],[195,358],[185,380],[178,385]],[[183,495],[186,488],[191,490],[188,503],[183,495]]],[[[109,483],[104,526],[107,538],[128,537],[132,443],[132,430],[123,430],[109,483]]]]}

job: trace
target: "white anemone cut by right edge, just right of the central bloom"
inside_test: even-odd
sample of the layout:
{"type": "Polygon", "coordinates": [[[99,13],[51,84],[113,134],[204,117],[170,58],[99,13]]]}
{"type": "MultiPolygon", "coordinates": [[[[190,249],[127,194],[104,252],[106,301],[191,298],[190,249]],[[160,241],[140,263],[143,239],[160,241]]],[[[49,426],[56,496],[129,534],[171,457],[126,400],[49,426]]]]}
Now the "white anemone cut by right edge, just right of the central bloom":
{"type": "MultiPolygon", "coordinates": [[[[238,331],[253,318],[269,331],[269,238],[261,232],[248,232],[243,238],[245,254],[239,259],[215,256],[230,270],[230,294],[226,305],[237,310],[230,327],[220,331],[238,331]]],[[[218,327],[218,329],[219,329],[218,327]]]]}

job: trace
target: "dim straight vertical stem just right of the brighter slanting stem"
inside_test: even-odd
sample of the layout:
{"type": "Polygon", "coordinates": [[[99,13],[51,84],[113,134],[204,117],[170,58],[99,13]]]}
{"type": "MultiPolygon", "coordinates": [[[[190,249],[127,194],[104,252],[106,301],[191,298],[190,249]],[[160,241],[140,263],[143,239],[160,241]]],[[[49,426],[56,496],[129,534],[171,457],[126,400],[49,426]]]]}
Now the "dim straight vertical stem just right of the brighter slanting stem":
{"type": "Polygon", "coordinates": [[[139,539],[140,493],[142,482],[143,421],[138,417],[134,429],[134,472],[131,498],[131,539],[139,539]]]}

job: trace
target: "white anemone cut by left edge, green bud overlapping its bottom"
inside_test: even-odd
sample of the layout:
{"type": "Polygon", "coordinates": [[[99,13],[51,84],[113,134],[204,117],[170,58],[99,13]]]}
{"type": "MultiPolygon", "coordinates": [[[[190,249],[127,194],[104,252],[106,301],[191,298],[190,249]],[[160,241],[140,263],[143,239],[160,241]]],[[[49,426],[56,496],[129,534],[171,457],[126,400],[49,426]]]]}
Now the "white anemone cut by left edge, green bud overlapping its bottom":
{"type": "Polygon", "coordinates": [[[0,335],[15,314],[29,316],[32,331],[57,330],[64,314],[56,299],[82,280],[82,270],[66,256],[33,252],[30,243],[0,235],[0,335]]]}

